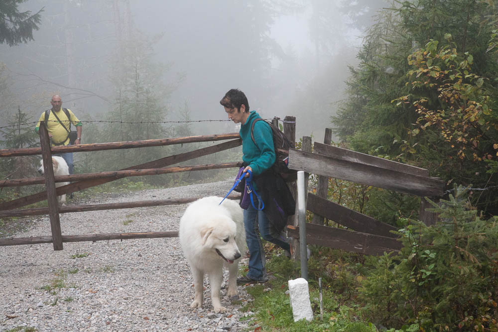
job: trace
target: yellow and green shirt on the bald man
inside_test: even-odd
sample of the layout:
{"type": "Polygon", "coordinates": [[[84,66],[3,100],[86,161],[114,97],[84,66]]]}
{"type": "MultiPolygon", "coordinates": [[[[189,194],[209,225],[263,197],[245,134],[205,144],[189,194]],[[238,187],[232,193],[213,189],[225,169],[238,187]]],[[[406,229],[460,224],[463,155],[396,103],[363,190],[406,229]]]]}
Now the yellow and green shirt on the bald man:
{"type": "MultiPolygon", "coordinates": [[[[69,121],[71,120],[71,123],[76,127],[79,125],[83,125],[80,120],[76,117],[76,115],[73,114],[73,112],[69,109],[67,109],[69,113],[69,119],[66,116],[66,113],[64,110],[61,109],[57,112],[57,116],[61,120],[62,124],[64,127],[69,130],[69,121]]],[[[40,123],[45,121],[45,112],[41,113],[40,119],[38,120],[38,123],[36,123],[35,131],[38,132],[40,130],[40,123]]],[[[52,139],[51,139],[51,145],[68,145],[69,144],[69,134],[64,129],[64,127],[61,125],[61,122],[57,120],[57,118],[54,115],[54,111],[50,110],[50,114],[48,115],[48,121],[47,121],[47,130],[49,133],[52,134],[52,139]]]]}

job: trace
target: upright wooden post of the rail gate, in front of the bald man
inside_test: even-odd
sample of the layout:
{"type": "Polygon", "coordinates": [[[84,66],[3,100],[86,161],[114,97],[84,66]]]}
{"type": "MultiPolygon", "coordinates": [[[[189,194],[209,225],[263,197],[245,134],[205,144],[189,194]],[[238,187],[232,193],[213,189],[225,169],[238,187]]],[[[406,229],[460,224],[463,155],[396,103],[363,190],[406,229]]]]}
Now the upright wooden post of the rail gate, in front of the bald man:
{"type": "Polygon", "coordinates": [[[52,166],[52,153],[50,152],[50,137],[48,136],[45,123],[40,123],[40,146],[43,158],[43,169],[45,174],[45,186],[47,188],[48,216],[52,228],[52,243],[54,250],[63,250],[61,223],[59,220],[59,205],[57,203],[57,191],[54,181],[54,169],[52,166]]]}

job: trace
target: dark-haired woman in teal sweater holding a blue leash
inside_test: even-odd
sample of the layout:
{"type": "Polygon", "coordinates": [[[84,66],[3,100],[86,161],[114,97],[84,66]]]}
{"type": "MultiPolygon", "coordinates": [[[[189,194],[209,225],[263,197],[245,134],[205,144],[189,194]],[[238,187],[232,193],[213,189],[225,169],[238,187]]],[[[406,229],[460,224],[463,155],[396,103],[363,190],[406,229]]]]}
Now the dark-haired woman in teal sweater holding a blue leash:
{"type": "MultiPolygon", "coordinates": [[[[253,134],[256,142],[254,144],[250,134],[251,124],[254,119],[261,117],[256,111],[249,112],[249,102],[246,95],[238,89],[232,89],[225,94],[220,104],[225,108],[229,119],[235,123],[241,123],[242,160],[244,165],[247,165],[244,171],[250,170],[252,176],[257,177],[268,170],[275,162],[273,136],[270,126],[265,121],[257,121],[254,124],[253,134]]],[[[255,188],[255,190],[257,189],[255,188]]],[[[259,202],[255,197],[254,199],[254,206],[257,206],[259,202]]],[[[249,249],[249,271],[246,276],[238,278],[237,282],[243,284],[266,282],[268,277],[266,275],[264,249],[257,229],[259,229],[263,239],[280,246],[288,255],[290,255],[290,245],[272,236],[270,224],[264,212],[254,209],[252,205],[249,205],[249,208],[244,210],[244,226],[249,249]]]]}

